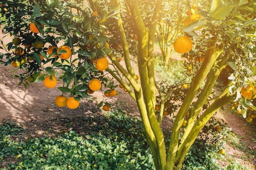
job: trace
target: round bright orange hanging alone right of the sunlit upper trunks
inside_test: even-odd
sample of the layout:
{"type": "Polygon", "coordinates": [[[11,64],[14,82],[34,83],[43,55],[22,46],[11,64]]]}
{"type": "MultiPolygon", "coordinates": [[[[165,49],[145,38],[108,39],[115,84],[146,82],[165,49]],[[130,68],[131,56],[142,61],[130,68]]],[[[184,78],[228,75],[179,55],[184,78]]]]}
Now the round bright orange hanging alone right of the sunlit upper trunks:
{"type": "Polygon", "coordinates": [[[193,42],[187,36],[181,36],[173,43],[173,48],[177,53],[187,53],[192,49],[193,42]]]}

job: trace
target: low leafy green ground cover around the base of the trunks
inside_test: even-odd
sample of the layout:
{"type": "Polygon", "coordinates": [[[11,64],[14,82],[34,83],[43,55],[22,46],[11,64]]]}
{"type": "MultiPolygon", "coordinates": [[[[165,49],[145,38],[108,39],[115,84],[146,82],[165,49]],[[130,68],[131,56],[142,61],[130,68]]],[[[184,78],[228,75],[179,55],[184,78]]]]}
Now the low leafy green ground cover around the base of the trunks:
{"type": "MultiPolygon", "coordinates": [[[[115,110],[93,119],[83,119],[85,122],[90,119],[100,123],[83,136],[70,130],[56,137],[45,134],[28,139],[22,138],[25,132],[22,126],[5,121],[0,126],[1,170],[154,169],[153,157],[139,118],[115,110]]],[[[72,127],[68,124],[66,126],[72,127]]],[[[211,132],[214,135],[216,133],[215,130],[211,132]]],[[[222,169],[217,161],[222,157],[218,153],[221,145],[222,142],[216,138],[196,139],[186,155],[182,169],[222,169]]],[[[239,163],[236,164],[233,167],[230,164],[229,169],[239,167],[246,170],[239,163]]]]}

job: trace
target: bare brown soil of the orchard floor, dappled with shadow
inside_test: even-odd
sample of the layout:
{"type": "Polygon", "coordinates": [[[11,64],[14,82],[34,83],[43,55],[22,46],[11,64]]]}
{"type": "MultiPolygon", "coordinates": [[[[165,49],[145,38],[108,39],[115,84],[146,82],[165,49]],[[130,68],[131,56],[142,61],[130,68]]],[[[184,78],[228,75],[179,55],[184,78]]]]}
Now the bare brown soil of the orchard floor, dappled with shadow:
{"type": "MultiPolygon", "coordinates": [[[[4,67],[0,64],[0,123],[10,120],[24,126],[24,138],[55,136],[58,133],[66,132],[71,129],[76,130],[81,135],[99,122],[84,122],[83,117],[101,117],[105,113],[98,108],[99,102],[107,100],[112,109],[119,108],[129,115],[139,117],[136,102],[124,92],[117,88],[118,95],[110,98],[103,98],[103,93],[97,91],[90,95],[90,99],[82,99],[79,108],[70,110],[67,107],[58,108],[54,104],[56,96],[61,95],[57,87],[46,88],[43,82],[30,83],[27,89],[24,86],[18,86],[19,79],[15,77],[22,73],[12,66],[4,67]]],[[[116,83],[117,84],[117,83],[116,83]]],[[[252,140],[256,133],[256,119],[251,124],[247,124],[231,113],[229,106],[220,110],[216,118],[227,122],[232,131],[241,137],[241,140],[251,148],[256,150],[256,143],[252,140]]],[[[162,126],[171,128],[169,117],[164,117],[162,126]]],[[[234,155],[236,159],[245,166],[254,169],[256,159],[244,158],[245,153],[235,150],[232,146],[226,144],[226,153],[234,155]],[[243,158],[243,159],[242,159],[243,158]],[[250,161],[251,159],[251,161],[250,161]]],[[[220,161],[220,166],[225,166],[227,162],[220,161]]]]}

